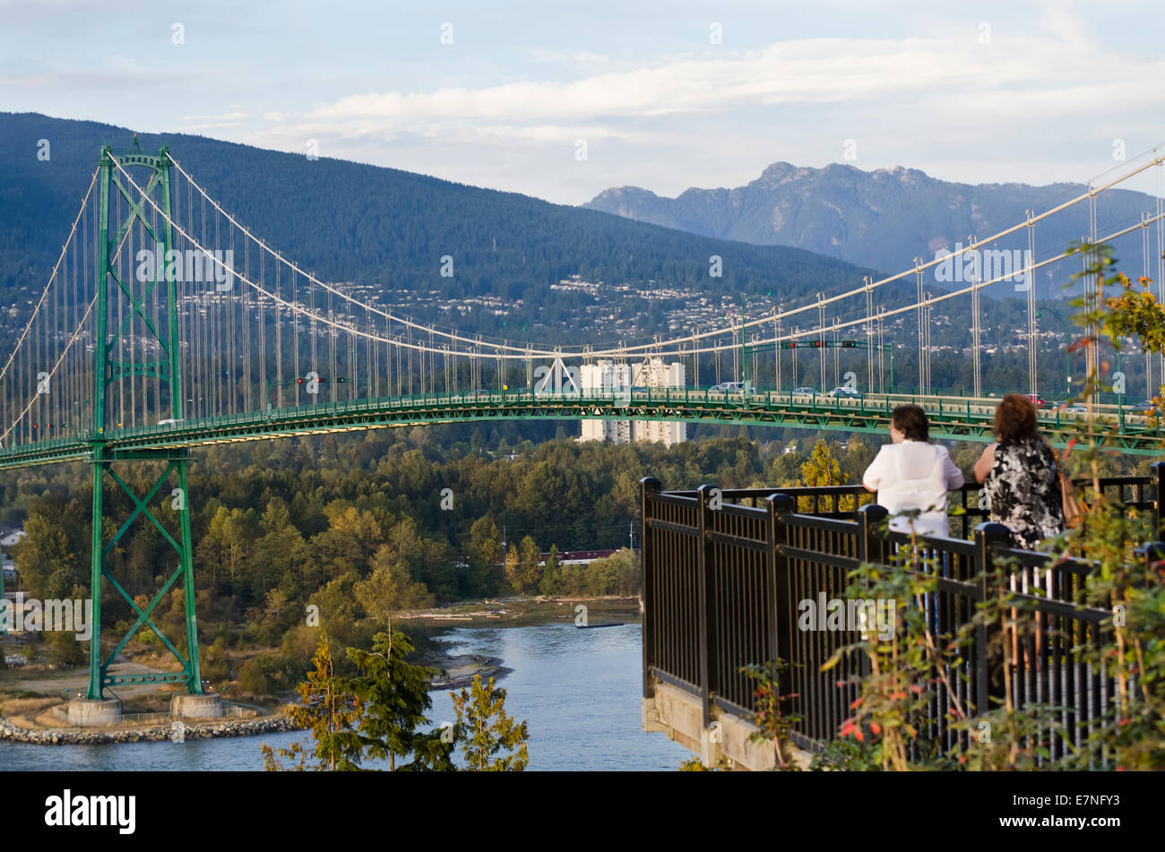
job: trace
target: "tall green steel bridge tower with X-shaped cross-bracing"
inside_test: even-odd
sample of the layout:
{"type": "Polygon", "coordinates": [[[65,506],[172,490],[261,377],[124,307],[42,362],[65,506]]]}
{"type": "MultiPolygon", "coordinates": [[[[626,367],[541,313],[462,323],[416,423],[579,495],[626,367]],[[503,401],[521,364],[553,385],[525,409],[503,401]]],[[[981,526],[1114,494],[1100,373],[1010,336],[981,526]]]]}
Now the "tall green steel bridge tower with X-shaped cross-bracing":
{"type": "MultiPolygon", "coordinates": [[[[175,269],[172,264],[155,262],[154,272],[150,276],[134,275],[123,281],[118,272],[115,264],[116,250],[121,246],[122,239],[135,222],[141,222],[144,233],[153,240],[153,250],[158,253],[157,258],[168,260],[167,253],[174,248],[174,227],[168,221],[170,218],[170,169],[171,161],[168,149],[162,148],[156,155],[144,154],[134,136],[133,147],[125,152],[114,152],[108,145],[101,149],[101,162],[99,166],[98,183],[100,189],[100,207],[98,211],[98,244],[97,244],[97,315],[96,338],[93,347],[93,425],[89,435],[91,448],[91,463],[93,467],[93,517],[92,517],[92,563],[91,563],[91,597],[93,599],[93,632],[90,645],[90,669],[89,690],[85,697],[89,701],[103,701],[110,687],[139,684],[139,683],[182,683],[186,687],[186,693],[202,695],[203,686],[198,668],[198,622],[195,618],[195,583],[193,566],[191,563],[192,546],[190,540],[190,500],[186,487],[186,450],[184,448],[171,449],[107,449],[107,436],[113,431],[116,420],[108,411],[107,391],[111,384],[125,378],[151,376],[157,377],[160,392],[157,398],[151,400],[151,406],[146,410],[154,418],[162,418],[163,412],[169,412],[169,417],[176,420],[183,418],[182,376],[179,369],[179,340],[178,340],[178,299],[175,269]],[[118,166],[121,166],[119,169],[118,166]],[[148,175],[148,183],[134,178],[130,183],[123,179],[123,173],[130,169],[140,170],[140,173],[148,175]],[[121,170],[125,170],[122,172],[121,170]],[[137,191],[134,183],[144,189],[137,191]],[[125,221],[116,226],[116,230],[111,230],[111,210],[115,212],[120,205],[120,199],[125,199],[128,205],[128,214],[125,221]],[[153,204],[148,199],[153,199],[153,204]],[[146,207],[156,205],[162,212],[161,216],[147,214],[146,207]],[[154,221],[151,221],[154,220],[154,221]],[[136,278],[148,278],[136,281],[136,278]],[[161,287],[161,292],[158,291],[161,287]],[[112,299],[121,299],[121,304],[128,307],[128,315],[118,322],[119,312],[112,312],[111,304],[118,303],[112,299]],[[154,306],[162,308],[164,299],[164,311],[151,312],[148,308],[154,306]],[[157,318],[157,322],[151,318],[151,313],[157,318]],[[164,320],[163,320],[164,317],[164,320]],[[143,361],[141,357],[125,357],[123,345],[130,324],[139,320],[136,329],[151,345],[154,360],[143,361]],[[154,480],[154,485],[144,497],[140,497],[116,470],[119,464],[148,463],[153,469],[162,468],[162,473],[154,480]],[[106,477],[113,481],[129,496],[134,510],[129,513],[116,531],[112,530],[110,519],[105,517],[105,505],[103,490],[106,477]],[[171,510],[168,514],[158,510],[171,510]],[[161,514],[161,517],[160,517],[161,514]],[[169,573],[165,582],[157,590],[149,603],[142,608],[133,596],[122,588],[121,583],[113,575],[110,553],[126,534],[129,526],[141,516],[144,521],[153,524],[162,538],[174,547],[177,554],[177,567],[169,573]],[[171,533],[162,523],[162,518],[169,518],[171,526],[177,520],[177,531],[171,533]],[[111,533],[107,535],[107,533],[111,533]],[[133,608],[137,618],[121,637],[120,641],[110,651],[108,655],[101,653],[101,581],[107,581],[114,592],[123,597],[133,608]],[[153,615],[158,603],[162,602],[181,578],[183,595],[185,598],[185,654],[162,633],[162,630],[154,623],[153,615]],[[126,646],[135,633],[142,627],[149,627],[158,640],[174,654],[182,666],[181,672],[158,674],[127,674],[112,675],[110,666],[118,654],[126,646]]],[[[134,270],[134,263],[129,264],[134,270]]],[[[116,424],[120,426],[120,424],[116,424]]],[[[167,567],[169,569],[169,566],[167,567]]],[[[105,703],[103,701],[103,703],[105,703]]],[[[120,712],[120,708],[116,712],[120,712]]],[[[72,710],[70,717],[72,717],[72,710]]],[[[80,716],[80,711],[78,711],[80,716]]],[[[99,719],[76,719],[80,724],[99,723],[99,719]]]]}

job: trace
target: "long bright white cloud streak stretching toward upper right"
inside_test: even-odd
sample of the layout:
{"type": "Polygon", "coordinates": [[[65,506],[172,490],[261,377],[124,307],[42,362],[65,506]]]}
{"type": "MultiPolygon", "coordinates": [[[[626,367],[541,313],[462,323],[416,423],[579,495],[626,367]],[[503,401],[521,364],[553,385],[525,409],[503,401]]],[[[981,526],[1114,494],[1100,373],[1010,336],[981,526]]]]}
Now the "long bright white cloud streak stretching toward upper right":
{"type": "MultiPolygon", "coordinates": [[[[1050,13],[1055,33],[1076,33],[1050,13]]],[[[1083,50],[1083,48],[1081,48],[1083,50]]],[[[543,58],[563,55],[537,51],[543,58]]],[[[591,56],[591,55],[588,55],[591,56]]],[[[756,106],[902,102],[1022,102],[1057,114],[1094,114],[1093,97],[1122,107],[1152,104],[1152,78],[1134,73],[1160,63],[1106,57],[1083,61],[1046,35],[996,33],[982,45],[966,28],[946,38],[809,38],[723,58],[675,57],[651,68],[567,80],[520,80],[480,88],[368,92],[323,104],[305,118],[337,128],[398,128],[431,122],[586,122],[602,119],[711,115],[756,106]],[[1018,90],[1018,94],[1017,94],[1018,90]],[[1026,94],[1025,94],[1026,93],[1026,94]],[[1086,95],[1086,97],[1081,97],[1086,95]]],[[[1153,76],[1156,77],[1156,74],[1153,76]]]]}

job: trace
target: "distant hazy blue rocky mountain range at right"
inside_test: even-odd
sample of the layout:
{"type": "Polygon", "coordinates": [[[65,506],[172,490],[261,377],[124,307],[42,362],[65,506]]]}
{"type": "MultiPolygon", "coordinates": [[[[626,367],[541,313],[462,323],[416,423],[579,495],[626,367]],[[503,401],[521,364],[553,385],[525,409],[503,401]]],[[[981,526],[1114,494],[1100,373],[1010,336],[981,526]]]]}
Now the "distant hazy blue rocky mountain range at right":
{"type": "MultiPolygon", "coordinates": [[[[1087,191],[1082,184],[961,184],[917,169],[863,171],[848,164],[807,169],[774,163],[735,189],[690,189],[676,198],[638,186],[600,192],[584,206],[701,236],[760,246],[790,246],[897,272],[913,258],[933,260],[968,236],[981,240],[1087,191]]],[[[1141,220],[1156,199],[1141,192],[1104,192],[1097,233],[1141,220]]],[[[1088,205],[1080,204],[1036,226],[1036,257],[1062,250],[1088,234],[1088,205]]],[[[1139,236],[1136,239],[1139,248],[1139,236]]],[[[1025,249],[1021,232],[994,248],[1025,249]]]]}

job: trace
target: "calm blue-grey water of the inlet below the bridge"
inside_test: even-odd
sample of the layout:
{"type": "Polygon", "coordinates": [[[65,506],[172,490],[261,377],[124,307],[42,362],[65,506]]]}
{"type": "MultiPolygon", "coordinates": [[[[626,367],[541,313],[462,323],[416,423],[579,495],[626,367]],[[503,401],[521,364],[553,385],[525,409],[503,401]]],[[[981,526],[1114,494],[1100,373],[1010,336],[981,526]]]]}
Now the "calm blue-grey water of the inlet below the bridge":
{"type": "MultiPolygon", "coordinates": [[[[640,729],[641,630],[637,624],[578,630],[573,624],[454,629],[453,653],[499,656],[514,669],[504,687],[506,710],[528,723],[530,771],[673,771],[691,757],[663,733],[640,729]]],[[[447,691],[432,694],[435,726],[452,722],[447,691]]],[[[260,744],[287,746],[306,732],[259,737],[38,746],[0,741],[3,769],[253,771],[263,768],[260,744]]]]}

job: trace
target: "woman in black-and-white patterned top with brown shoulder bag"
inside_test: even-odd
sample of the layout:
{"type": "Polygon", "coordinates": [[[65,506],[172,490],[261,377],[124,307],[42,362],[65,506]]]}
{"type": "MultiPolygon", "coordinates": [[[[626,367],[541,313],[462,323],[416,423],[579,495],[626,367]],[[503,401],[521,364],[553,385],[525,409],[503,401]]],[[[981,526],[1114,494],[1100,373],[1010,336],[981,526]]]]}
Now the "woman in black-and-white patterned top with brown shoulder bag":
{"type": "Polygon", "coordinates": [[[1064,532],[1064,503],[1055,453],[1036,431],[1036,406],[1008,393],[995,409],[996,443],[975,462],[975,480],[984,483],[991,520],[1011,530],[1017,547],[1035,549],[1064,532]]]}

